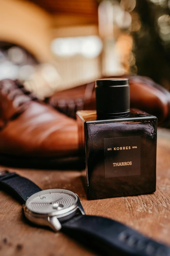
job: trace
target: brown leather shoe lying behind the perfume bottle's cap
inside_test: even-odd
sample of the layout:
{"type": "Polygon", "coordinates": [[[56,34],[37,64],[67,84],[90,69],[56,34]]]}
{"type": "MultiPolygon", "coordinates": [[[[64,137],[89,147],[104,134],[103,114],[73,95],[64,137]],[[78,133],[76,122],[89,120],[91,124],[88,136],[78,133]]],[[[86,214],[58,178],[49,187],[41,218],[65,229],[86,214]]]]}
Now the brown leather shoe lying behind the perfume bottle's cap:
{"type": "MultiPolygon", "coordinates": [[[[158,118],[160,126],[170,126],[170,93],[152,79],[141,76],[129,78],[131,107],[158,118]]],[[[77,110],[95,110],[95,82],[57,92],[47,101],[58,111],[76,118],[77,110]]]]}

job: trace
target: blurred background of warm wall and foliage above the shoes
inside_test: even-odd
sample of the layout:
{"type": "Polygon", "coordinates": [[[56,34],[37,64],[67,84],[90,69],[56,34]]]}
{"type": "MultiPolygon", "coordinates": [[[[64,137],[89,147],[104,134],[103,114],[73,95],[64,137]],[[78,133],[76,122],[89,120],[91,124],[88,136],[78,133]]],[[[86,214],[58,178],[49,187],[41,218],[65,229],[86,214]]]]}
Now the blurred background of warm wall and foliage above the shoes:
{"type": "Polygon", "coordinates": [[[133,73],[170,90],[170,0],[0,0],[0,79],[40,99],[133,73]]]}

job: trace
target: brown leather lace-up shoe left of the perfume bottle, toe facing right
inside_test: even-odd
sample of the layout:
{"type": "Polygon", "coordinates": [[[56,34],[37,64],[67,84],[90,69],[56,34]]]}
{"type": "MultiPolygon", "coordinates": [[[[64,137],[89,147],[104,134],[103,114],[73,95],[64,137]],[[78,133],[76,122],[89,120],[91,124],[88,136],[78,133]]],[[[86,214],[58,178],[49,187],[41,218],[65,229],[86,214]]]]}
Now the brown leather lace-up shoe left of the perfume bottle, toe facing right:
{"type": "Polygon", "coordinates": [[[65,168],[78,159],[76,121],[10,79],[0,81],[0,126],[1,164],[65,168]]]}

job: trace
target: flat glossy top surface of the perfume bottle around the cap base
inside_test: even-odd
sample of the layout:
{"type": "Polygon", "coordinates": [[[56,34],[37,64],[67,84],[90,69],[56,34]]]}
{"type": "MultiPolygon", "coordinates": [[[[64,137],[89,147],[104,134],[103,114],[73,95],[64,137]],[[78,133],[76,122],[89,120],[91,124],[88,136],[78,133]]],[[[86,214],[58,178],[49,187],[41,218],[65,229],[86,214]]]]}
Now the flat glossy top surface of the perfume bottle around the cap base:
{"type": "Polygon", "coordinates": [[[118,121],[127,121],[127,120],[148,120],[148,119],[155,119],[157,117],[154,115],[150,115],[144,111],[138,109],[131,109],[130,113],[126,117],[98,117],[96,111],[90,110],[81,110],[77,111],[77,116],[85,123],[103,123],[103,122],[118,122],[118,121]]]}

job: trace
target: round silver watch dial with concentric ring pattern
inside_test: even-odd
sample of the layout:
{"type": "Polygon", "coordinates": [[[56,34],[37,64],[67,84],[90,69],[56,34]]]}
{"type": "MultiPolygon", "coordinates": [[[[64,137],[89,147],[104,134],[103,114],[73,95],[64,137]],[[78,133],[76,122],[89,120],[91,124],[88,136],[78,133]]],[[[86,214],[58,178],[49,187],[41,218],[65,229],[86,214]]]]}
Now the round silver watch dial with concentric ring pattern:
{"type": "Polygon", "coordinates": [[[26,207],[34,213],[60,215],[78,205],[78,196],[65,189],[48,189],[35,193],[26,201],[26,207]]]}

